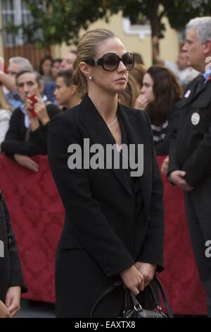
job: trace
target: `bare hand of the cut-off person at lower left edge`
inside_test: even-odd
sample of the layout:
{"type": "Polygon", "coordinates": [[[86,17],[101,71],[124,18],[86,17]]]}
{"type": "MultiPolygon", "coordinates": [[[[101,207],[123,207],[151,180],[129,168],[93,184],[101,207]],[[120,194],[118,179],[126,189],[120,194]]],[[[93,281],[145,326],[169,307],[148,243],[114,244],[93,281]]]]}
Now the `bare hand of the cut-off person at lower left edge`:
{"type": "Polygon", "coordinates": [[[19,286],[9,287],[6,292],[6,307],[11,314],[11,317],[20,310],[20,292],[21,288],[19,286]]]}

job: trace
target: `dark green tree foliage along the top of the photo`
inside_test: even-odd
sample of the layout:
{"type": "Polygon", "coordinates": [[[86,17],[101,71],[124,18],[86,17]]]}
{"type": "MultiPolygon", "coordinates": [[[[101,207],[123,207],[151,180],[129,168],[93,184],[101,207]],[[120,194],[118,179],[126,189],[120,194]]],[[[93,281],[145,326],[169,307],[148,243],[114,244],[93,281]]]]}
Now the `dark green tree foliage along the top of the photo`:
{"type": "Polygon", "coordinates": [[[9,25],[8,30],[17,32],[21,28],[27,41],[40,47],[62,42],[77,44],[81,28],[87,30],[99,18],[108,22],[119,11],[132,23],[137,23],[140,17],[149,19],[153,35],[158,37],[165,30],[161,23],[164,15],[172,28],[181,30],[191,18],[211,13],[210,0],[26,0],[26,3],[32,13],[32,23],[19,27],[9,25]],[[156,4],[162,4],[163,10],[158,11],[156,4]]]}

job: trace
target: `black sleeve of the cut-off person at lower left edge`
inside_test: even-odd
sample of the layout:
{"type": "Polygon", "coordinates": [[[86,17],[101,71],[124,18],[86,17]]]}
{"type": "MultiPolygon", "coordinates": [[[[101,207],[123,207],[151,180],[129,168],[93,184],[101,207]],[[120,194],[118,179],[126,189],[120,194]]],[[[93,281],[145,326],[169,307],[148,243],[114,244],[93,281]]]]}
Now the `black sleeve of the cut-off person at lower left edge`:
{"type": "Polygon", "coordinates": [[[8,209],[0,191],[0,300],[5,302],[8,287],[20,286],[27,292],[23,283],[23,275],[16,247],[15,237],[11,229],[8,209]]]}

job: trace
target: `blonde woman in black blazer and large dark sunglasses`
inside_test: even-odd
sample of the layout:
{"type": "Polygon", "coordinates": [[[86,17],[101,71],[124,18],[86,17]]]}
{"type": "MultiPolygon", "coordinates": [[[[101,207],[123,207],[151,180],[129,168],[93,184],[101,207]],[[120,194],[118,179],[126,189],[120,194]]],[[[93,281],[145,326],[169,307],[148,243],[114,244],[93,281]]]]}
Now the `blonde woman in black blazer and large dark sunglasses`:
{"type": "MultiPolygon", "coordinates": [[[[162,270],[162,181],[151,125],[145,112],[117,103],[133,66],[133,54],[113,32],[86,32],[77,48],[75,78],[88,93],[51,120],[49,162],[66,211],[56,254],[57,317],[89,317],[117,279],[139,295],[162,270]],[[131,148],[129,156],[122,143],[131,148]],[[106,153],[110,146],[120,167],[106,153]]],[[[117,316],[123,298],[118,288],[94,316],[117,316]]]]}

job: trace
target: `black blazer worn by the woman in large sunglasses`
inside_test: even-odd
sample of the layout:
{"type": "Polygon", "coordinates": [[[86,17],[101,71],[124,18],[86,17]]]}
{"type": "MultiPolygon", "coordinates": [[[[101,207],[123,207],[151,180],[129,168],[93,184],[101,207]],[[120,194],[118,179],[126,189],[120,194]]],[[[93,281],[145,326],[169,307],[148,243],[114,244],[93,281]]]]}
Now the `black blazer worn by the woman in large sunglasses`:
{"type": "MultiPolygon", "coordinates": [[[[58,316],[68,316],[67,310],[72,311],[72,315],[74,312],[79,315],[75,307],[81,296],[83,303],[92,299],[93,305],[99,292],[108,287],[106,278],[112,280],[135,261],[156,264],[158,271],[162,270],[162,180],[153,148],[151,124],[145,112],[122,105],[118,107],[128,143],[144,144],[144,170],[143,176],[139,177],[143,208],[136,223],[134,196],[125,170],[68,168],[70,144],[83,146],[84,138],[90,139],[90,145],[101,143],[104,150],[107,143],[113,144],[106,122],[88,95],[81,104],[54,117],[49,126],[49,162],[66,212],[56,263],[56,302],[63,307],[58,316]],[[84,249],[92,263],[88,256],[85,263],[82,250],[76,249],[84,249]],[[68,274],[71,266],[73,270],[68,274]],[[98,272],[94,273],[94,269],[98,272]],[[101,280],[100,271],[104,275],[101,275],[101,280]],[[92,290],[87,285],[80,296],[81,285],[86,280],[79,283],[79,278],[87,272],[91,275],[90,283],[95,287],[92,290]],[[102,287],[98,288],[100,283],[102,287]],[[75,289],[77,294],[74,297],[75,289]],[[65,300],[68,296],[69,300],[65,300]]],[[[91,304],[90,307],[84,304],[84,307],[90,309],[91,304]]],[[[82,305],[78,304],[78,307],[82,305]]],[[[82,311],[80,314],[89,316],[86,313],[82,311]]]]}

